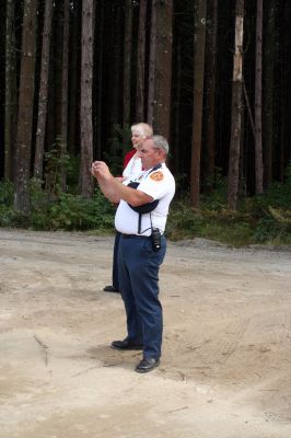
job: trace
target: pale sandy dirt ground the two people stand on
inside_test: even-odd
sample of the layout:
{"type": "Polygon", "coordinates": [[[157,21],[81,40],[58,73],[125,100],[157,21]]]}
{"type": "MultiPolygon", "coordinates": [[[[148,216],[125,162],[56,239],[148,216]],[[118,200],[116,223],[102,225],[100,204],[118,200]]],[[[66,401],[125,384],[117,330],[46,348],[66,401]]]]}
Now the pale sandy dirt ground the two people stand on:
{"type": "Polygon", "coordinates": [[[291,252],[168,243],[160,368],[135,372],[113,238],[0,229],[1,438],[290,438],[291,252]]]}

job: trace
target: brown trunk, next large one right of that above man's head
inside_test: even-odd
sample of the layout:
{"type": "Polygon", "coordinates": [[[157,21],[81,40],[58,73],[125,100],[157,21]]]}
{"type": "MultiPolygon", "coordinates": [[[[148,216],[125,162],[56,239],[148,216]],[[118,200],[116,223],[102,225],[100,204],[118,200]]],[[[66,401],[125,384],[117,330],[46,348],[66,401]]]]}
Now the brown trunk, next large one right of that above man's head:
{"type": "Polygon", "coordinates": [[[190,166],[190,203],[199,206],[200,194],[200,155],[202,142],[205,48],[206,48],[207,2],[198,0],[195,14],[194,34],[194,110],[193,110],[193,146],[190,166]]]}

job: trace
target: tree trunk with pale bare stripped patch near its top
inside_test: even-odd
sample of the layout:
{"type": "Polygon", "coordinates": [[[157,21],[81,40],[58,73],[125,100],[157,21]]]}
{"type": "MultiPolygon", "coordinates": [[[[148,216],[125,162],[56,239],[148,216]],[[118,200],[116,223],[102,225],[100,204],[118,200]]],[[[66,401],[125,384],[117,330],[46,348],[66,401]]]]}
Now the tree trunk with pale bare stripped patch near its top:
{"type": "Polygon", "coordinates": [[[238,165],[240,145],[242,131],[242,85],[243,85],[243,36],[244,36],[244,0],[236,0],[235,4],[235,43],[233,55],[232,77],[232,122],[231,145],[229,161],[229,207],[233,210],[237,207],[238,194],[238,165]]]}

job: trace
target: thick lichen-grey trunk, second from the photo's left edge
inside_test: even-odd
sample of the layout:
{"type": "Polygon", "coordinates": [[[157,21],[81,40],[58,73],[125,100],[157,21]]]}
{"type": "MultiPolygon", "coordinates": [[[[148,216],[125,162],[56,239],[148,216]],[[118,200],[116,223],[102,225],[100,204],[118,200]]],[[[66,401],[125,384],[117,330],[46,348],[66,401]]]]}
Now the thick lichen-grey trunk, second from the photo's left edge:
{"type": "Polygon", "coordinates": [[[14,208],[28,212],[37,0],[25,0],[22,24],[21,74],[15,151],[14,208]]]}

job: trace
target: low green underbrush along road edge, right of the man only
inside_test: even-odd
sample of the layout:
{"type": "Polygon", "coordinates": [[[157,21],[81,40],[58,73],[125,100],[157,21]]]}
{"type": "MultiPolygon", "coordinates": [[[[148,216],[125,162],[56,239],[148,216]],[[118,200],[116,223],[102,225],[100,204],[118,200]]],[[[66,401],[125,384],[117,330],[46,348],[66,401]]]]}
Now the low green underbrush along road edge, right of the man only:
{"type": "Polygon", "coordinates": [[[171,240],[203,238],[232,246],[251,244],[291,244],[291,211],[269,207],[265,211],[237,210],[226,207],[219,211],[201,205],[199,210],[184,203],[176,203],[167,222],[171,240]]]}

